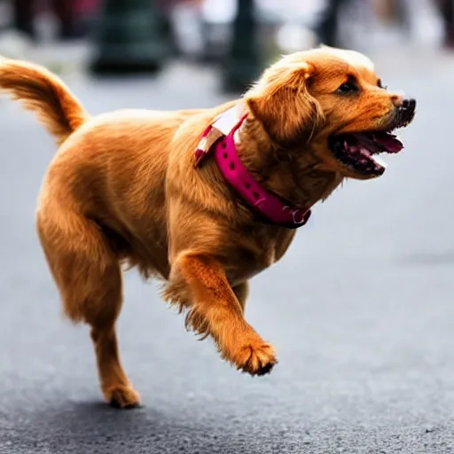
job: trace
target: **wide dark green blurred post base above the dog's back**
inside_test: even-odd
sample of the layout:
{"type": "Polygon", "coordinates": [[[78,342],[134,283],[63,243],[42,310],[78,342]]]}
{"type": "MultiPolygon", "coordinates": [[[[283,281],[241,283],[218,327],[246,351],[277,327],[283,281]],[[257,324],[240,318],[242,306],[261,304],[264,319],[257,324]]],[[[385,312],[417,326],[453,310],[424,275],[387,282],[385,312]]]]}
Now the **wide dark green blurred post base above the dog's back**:
{"type": "Polygon", "coordinates": [[[165,26],[153,0],[104,0],[90,70],[97,74],[159,71],[168,51],[165,26]]]}

